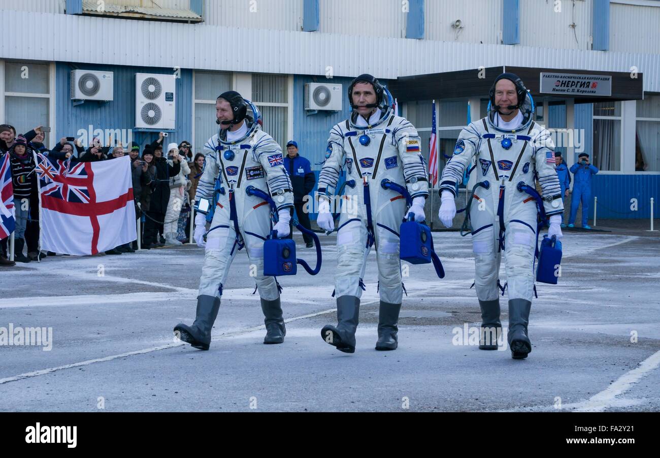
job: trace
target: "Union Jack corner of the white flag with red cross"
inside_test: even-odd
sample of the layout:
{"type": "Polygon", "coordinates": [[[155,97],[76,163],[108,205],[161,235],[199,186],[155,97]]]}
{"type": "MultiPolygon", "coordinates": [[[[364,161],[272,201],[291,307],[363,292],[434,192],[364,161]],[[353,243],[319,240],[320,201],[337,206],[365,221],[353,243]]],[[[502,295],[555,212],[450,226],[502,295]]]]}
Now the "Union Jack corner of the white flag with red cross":
{"type": "Polygon", "coordinates": [[[40,161],[37,173],[41,180],[42,196],[51,196],[65,202],[88,204],[90,202],[90,180],[85,169],[85,163],[54,161],[38,155],[40,161]]]}

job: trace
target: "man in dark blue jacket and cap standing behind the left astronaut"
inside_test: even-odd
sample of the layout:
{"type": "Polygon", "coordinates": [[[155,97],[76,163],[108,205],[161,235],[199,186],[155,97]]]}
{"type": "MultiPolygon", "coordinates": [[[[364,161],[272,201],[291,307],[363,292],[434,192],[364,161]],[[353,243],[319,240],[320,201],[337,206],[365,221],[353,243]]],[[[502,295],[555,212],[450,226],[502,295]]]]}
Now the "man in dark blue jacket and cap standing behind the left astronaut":
{"type": "MultiPolygon", "coordinates": [[[[311,231],[310,215],[304,211],[305,205],[303,199],[306,195],[310,194],[312,189],[314,189],[316,178],[314,177],[314,172],[312,172],[310,161],[298,154],[298,143],[293,140],[286,143],[284,169],[286,169],[291,178],[294,197],[293,203],[296,207],[298,222],[302,224],[302,227],[311,231]]],[[[291,216],[293,216],[293,209],[291,209],[291,216]]],[[[292,239],[292,235],[293,228],[291,227],[288,238],[292,239]]],[[[314,241],[312,240],[311,235],[303,233],[302,238],[304,239],[307,248],[314,247],[314,241]]]]}

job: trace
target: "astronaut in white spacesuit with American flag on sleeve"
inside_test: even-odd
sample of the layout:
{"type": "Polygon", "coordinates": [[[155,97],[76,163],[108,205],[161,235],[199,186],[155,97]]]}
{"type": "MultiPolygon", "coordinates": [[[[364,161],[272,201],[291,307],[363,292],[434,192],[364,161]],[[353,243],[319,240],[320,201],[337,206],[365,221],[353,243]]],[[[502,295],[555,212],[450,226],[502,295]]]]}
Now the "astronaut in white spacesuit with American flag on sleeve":
{"type": "Polygon", "coordinates": [[[531,352],[527,335],[534,288],[533,262],[537,243],[537,203],[517,188],[519,182],[543,188],[543,207],[550,218],[548,236],[562,237],[564,211],[555,170],[554,144],[550,133],[532,120],[533,100],[513,73],[503,73],[490,89],[490,112],[461,131],[453,156],[442,172],[441,206],[438,216],[451,227],[456,215],[455,185],[471,164],[479,181],[468,209],[475,253],[475,287],[481,309],[482,340],[479,348],[496,350],[496,340],[484,341],[484,330],[498,330],[500,301],[498,274],[504,252],[509,294],[508,344],[514,359],[531,352]]]}

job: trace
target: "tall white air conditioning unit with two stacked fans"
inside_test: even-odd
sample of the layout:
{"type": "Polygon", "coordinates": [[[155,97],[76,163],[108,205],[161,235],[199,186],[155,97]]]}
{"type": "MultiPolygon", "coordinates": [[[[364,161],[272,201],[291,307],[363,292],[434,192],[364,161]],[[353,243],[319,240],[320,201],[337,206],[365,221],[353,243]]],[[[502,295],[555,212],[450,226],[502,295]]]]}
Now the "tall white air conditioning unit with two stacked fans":
{"type": "Polygon", "coordinates": [[[172,130],[176,118],[174,75],[135,73],[135,127],[172,130]]]}

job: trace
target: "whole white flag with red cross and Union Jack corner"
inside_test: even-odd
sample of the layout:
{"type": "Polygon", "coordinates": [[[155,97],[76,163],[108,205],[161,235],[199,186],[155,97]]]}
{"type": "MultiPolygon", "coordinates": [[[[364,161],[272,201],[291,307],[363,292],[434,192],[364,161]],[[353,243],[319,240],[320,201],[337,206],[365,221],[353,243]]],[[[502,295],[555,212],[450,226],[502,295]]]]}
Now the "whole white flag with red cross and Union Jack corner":
{"type": "Polygon", "coordinates": [[[137,239],[130,157],[35,161],[42,250],[83,256],[137,239]]]}

